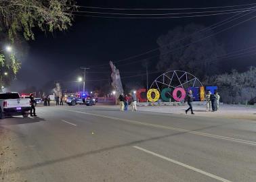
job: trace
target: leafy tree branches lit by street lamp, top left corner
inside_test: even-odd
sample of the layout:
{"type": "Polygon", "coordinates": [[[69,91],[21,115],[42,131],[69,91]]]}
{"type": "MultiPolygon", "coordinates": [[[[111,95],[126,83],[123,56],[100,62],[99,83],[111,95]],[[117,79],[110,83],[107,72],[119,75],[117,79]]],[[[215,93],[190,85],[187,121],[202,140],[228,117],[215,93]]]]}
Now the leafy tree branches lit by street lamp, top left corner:
{"type": "MultiPolygon", "coordinates": [[[[67,30],[72,25],[72,10],[76,9],[74,3],[73,0],[1,0],[1,42],[19,47],[20,40],[35,39],[35,28],[43,32],[67,30]]],[[[8,84],[10,78],[15,78],[20,66],[20,60],[14,52],[0,52],[1,86],[8,84]],[[9,73],[8,79],[4,79],[5,71],[9,73]]]]}

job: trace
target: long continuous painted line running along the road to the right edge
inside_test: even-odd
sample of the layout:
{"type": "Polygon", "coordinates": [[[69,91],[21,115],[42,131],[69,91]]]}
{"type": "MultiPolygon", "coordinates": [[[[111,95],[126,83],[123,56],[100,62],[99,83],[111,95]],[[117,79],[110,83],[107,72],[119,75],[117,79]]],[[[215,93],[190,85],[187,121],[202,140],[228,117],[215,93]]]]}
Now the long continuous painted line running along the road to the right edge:
{"type": "Polygon", "coordinates": [[[237,142],[240,144],[249,144],[249,145],[253,145],[256,146],[256,142],[253,141],[249,141],[249,140],[241,140],[238,138],[229,138],[226,136],[221,136],[221,135],[213,135],[210,133],[202,133],[202,132],[197,132],[197,131],[191,131],[188,129],[181,129],[181,128],[177,128],[177,127],[168,127],[168,126],[163,126],[163,125],[155,125],[155,124],[151,124],[151,123],[144,123],[144,122],[140,122],[140,121],[134,121],[134,120],[130,120],[130,119],[123,119],[123,118],[119,118],[119,117],[110,117],[110,116],[106,116],[106,115],[98,115],[98,114],[94,114],[94,113],[86,113],[86,112],[82,112],[82,111],[72,111],[72,110],[68,110],[68,109],[63,109],[65,111],[70,111],[73,113],[81,113],[81,114],[85,114],[85,115],[91,115],[91,116],[95,116],[95,117],[103,117],[103,118],[108,118],[108,119],[114,119],[117,121],[125,121],[127,123],[133,123],[135,125],[145,125],[145,126],[150,126],[150,127],[156,127],[156,128],[163,128],[163,129],[170,129],[170,130],[175,130],[175,131],[181,131],[184,133],[192,133],[195,135],[202,135],[205,137],[209,137],[209,138],[217,138],[217,139],[221,139],[221,140],[228,140],[228,141],[232,141],[232,142],[237,142]]]}

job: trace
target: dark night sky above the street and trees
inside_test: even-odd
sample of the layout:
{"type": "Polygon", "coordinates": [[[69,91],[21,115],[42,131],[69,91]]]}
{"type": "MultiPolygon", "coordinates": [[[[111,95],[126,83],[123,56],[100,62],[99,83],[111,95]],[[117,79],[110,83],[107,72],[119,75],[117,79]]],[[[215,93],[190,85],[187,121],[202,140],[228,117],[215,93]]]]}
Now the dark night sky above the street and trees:
{"type": "MultiPolygon", "coordinates": [[[[77,1],[77,5],[127,8],[215,7],[246,3],[255,3],[255,1],[77,1]]],[[[53,83],[56,80],[66,84],[70,83],[70,86],[74,88],[77,86],[76,83],[68,81],[77,80],[77,77],[82,75],[79,69],[80,66],[100,65],[108,63],[110,60],[125,59],[150,49],[155,49],[157,48],[156,39],[158,36],[167,34],[168,30],[175,26],[184,26],[191,22],[209,26],[229,16],[231,15],[167,20],[75,17],[73,26],[66,32],[44,34],[36,30],[36,40],[29,42],[30,50],[27,57],[22,60],[22,69],[18,73],[18,80],[14,82],[12,89],[21,90],[28,86],[41,88],[43,85],[53,83]]],[[[255,30],[255,21],[250,21],[219,34],[217,38],[224,44],[226,51],[230,52],[255,45],[255,30]]],[[[157,54],[158,52],[156,51],[148,56],[157,54]]],[[[230,61],[226,65],[229,66],[229,69],[234,67],[242,71],[249,65],[256,65],[255,57],[243,58],[246,60],[243,63],[240,63],[241,59],[230,61]]],[[[135,58],[129,61],[139,59],[135,58]]],[[[144,70],[141,65],[142,63],[139,62],[131,65],[117,64],[117,67],[123,76],[129,76],[137,74],[129,71],[139,72],[144,70]]],[[[87,74],[87,80],[107,79],[109,74],[101,73],[104,71],[110,71],[110,67],[108,65],[104,69],[98,66],[91,67],[87,74]]],[[[150,71],[155,71],[154,67],[150,67],[150,71]]],[[[154,77],[156,75],[150,76],[154,77]]],[[[131,80],[125,79],[123,82],[131,80]]],[[[91,89],[93,84],[100,83],[87,82],[87,86],[91,89]]]]}

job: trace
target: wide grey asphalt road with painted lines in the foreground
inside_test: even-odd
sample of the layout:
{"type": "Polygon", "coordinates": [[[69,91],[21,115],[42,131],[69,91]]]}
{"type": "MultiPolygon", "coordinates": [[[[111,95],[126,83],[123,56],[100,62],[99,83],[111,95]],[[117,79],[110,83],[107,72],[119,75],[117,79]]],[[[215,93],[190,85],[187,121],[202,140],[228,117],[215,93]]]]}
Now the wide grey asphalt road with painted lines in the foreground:
{"type": "Polygon", "coordinates": [[[31,182],[256,181],[255,121],[80,105],[37,107],[37,115],[0,121],[16,154],[15,167],[2,176],[31,182]]]}

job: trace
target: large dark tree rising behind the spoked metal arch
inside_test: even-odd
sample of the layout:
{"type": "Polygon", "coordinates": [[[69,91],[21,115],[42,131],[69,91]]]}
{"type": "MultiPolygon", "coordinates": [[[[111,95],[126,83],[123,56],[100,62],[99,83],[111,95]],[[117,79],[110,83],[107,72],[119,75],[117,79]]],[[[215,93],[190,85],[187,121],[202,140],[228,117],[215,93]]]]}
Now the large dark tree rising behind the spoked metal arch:
{"type": "Polygon", "coordinates": [[[214,36],[205,38],[212,34],[212,31],[200,32],[202,29],[205,29],[205,26],[189,24],[184,28],[176,27],[166,35],[160,36],[157,44],[161,55],[157,69],[180,69],[193,73],[197,78],[217,73],[218,62],[211,60],[223,55],[225,51],[214,36]],[[200,39],[202,40],[198,41],[200,39]]]}

